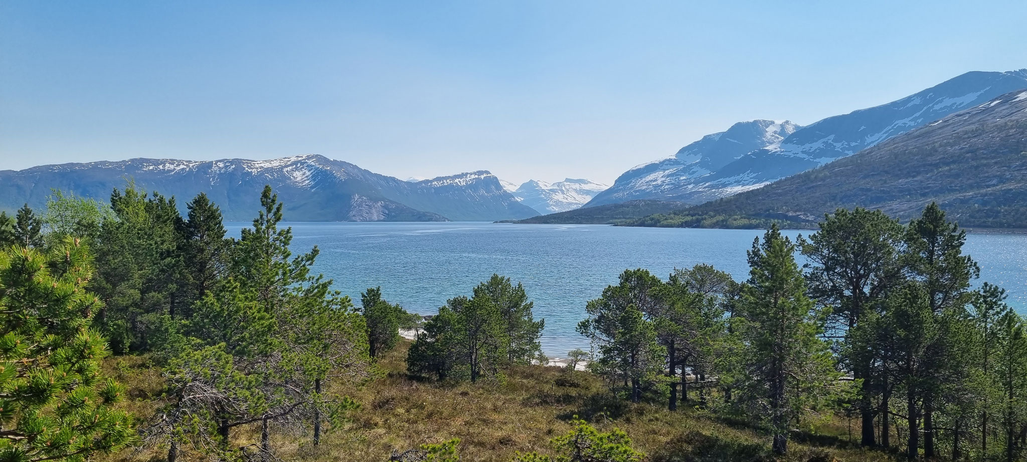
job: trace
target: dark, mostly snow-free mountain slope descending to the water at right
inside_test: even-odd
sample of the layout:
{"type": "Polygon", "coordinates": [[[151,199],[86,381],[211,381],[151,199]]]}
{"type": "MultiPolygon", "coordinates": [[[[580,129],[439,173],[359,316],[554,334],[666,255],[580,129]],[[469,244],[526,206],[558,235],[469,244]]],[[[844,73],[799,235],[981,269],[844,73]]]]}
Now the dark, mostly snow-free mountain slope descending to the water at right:
{"type": "Polygon", "coordinates": [[[802,225],[853,206],[908,220],[930,201],[963,226],[1027,228],[1027,90],[760,189],[636,224],[777,220],[802,225]]]}

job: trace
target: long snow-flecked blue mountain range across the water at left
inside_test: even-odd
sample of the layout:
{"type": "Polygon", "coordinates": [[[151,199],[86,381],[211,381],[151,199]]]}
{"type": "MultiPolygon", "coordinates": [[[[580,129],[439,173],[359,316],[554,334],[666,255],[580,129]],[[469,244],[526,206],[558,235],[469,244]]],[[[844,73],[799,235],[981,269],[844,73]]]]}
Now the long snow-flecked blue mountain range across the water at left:
{"type": "Polygon", "coordinates": [[[271,160],[129,159],[0,171],[0,209],[45,205],[50,189],[107,200],[126,179],[176,196],[179,206],[205,192],[228,221],[250,220],[271,185],[292,221],[494,221],[538,215],[488,171],[418,182],[378,175],[319,155],[271,160]]]}

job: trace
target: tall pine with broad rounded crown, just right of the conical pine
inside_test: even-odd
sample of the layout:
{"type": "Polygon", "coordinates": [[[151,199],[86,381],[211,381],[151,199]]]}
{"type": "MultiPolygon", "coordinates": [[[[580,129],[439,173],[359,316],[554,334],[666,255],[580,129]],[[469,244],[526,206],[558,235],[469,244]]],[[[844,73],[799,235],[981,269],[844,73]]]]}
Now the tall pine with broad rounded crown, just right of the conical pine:
{"type": "MultiPolygon", "coordinates": [[[[903,229],[882,211],[862,207],[851,211],[839,208],[834,215],[826,215],[820,228],[808,240],[799,238],[802,254],[809,260],[809,294],[832,305],[829,335],[844,339],[868,311],[880,309],[887,291],[901,280],[903,229]]],[[[841,356],[843,363],[862,383],[858,402],[862,444],[872,447],[876,445],[874,417],[878,413],[873,397],[888,384],[881,383],[872,370],[876,359],[868,354],[871,350],[857,351],[848,345],[844,351],[849,354],[841,356]]],[[[886,402],[884,407],[886,413],[886,402]]]]}

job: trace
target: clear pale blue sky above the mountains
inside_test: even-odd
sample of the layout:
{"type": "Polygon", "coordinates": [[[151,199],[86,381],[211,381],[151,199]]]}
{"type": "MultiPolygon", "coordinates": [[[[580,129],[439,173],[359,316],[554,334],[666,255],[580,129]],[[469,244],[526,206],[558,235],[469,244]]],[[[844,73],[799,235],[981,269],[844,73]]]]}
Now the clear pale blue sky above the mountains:
{"type": "Polygon", "coordinates": [[[0,169],[321,154],[605,184],[756,118],[1027,68],[1015,1],[0,0],[0,169]]]}

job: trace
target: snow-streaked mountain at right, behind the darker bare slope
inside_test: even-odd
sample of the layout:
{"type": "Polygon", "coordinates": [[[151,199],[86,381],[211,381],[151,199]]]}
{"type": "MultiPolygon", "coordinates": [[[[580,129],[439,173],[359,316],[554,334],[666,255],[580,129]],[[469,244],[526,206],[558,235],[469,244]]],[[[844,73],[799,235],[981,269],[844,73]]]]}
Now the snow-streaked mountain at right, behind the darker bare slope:
{"type": "Polygon", "coordinates": [[[787,121],[736,123],[682,148],[674,157],[627,170],[585,206],[631,199],[701,203],[730,196],[852,155],[1021,88],[1027,88],[1027,70],[967,72],[901,100],[803,127],[787,121]],[[771,132],[772,128],[776,131],[771,132]]]}

